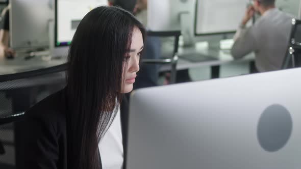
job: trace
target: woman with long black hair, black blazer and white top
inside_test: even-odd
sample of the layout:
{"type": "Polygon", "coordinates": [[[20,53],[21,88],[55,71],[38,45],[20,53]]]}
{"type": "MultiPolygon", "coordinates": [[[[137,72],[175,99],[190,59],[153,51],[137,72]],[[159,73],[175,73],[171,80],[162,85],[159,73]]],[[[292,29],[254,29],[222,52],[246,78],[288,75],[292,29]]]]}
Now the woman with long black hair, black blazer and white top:
{"type": "Polygon", "coordinates": [[[123,116],[122,93],[133,89],[144,33],[117,7],[95,8],[82,19],[69,49],[66,88],[26,112],[25,168],[111,167],[101,143],[123,116]]]}

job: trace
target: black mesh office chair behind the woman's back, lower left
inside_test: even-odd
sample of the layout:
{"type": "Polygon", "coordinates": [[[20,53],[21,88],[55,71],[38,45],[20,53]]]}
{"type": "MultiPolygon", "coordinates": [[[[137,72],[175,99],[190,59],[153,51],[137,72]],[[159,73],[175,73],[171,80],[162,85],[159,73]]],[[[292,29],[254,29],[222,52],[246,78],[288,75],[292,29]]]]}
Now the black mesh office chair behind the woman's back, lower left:
{"type": "Polygon", "coordinates": [[[62,64],[0,75],[0,168],[23,168],[26,152],[21,140],[26,135],[20,119],[33,104],[65,87],[66,69],[62,64]]]}

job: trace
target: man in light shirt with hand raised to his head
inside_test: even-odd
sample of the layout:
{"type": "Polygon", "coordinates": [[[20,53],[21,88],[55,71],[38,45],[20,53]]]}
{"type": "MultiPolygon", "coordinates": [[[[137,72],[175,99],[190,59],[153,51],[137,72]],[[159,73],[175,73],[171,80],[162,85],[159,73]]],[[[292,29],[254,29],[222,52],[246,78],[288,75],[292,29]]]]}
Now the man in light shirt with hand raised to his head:
{"type": "Polygon", "coordinates": [[[253,6],[247,8],[234,36],[231,49],[234,59],[255,52],[254,72],[281,69],[289,42],[292,18],[292,15],[275,7],[275,0],[254,0],[253,6]],[[260,13],[261,17],[254,25],[246,27],[255,12],[260,13]]]}

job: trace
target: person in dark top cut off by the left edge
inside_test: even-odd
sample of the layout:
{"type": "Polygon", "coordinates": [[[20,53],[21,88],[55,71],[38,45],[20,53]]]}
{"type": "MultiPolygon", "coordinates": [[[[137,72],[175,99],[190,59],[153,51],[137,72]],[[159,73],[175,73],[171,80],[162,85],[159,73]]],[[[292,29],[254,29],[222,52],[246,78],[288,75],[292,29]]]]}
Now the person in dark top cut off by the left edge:
{"type": "Polygon", "coordinates": [[[8,5],[1,13],[0,58],[11,59],[15,57],[15,51],[9,47],[9,10],[10,5],[8,5]]]}

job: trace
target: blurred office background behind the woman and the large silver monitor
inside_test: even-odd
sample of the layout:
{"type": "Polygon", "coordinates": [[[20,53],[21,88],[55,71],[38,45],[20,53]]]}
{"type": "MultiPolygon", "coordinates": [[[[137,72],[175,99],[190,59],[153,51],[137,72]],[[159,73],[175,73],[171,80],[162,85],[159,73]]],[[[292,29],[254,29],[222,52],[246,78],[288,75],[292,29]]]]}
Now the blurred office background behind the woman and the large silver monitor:
{"type": "MultiPolygon", "coordinates": [[[[97,6],[126,3],[148,31],[135,89],[281,70],[292,39],[301,42],[291,32],[299,0],[119,1],[0,1],[0,118],[21,116],[64,87],[72,36],[97,6]]],[[[26,155],[13,121],[0,123],[4,169],[22,168],[26,155]]]]}

